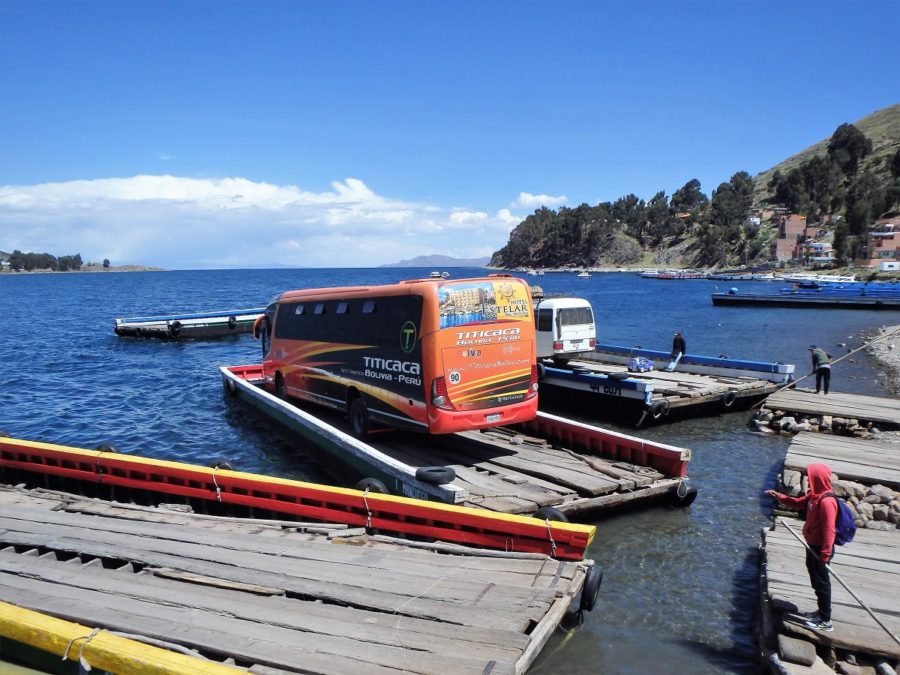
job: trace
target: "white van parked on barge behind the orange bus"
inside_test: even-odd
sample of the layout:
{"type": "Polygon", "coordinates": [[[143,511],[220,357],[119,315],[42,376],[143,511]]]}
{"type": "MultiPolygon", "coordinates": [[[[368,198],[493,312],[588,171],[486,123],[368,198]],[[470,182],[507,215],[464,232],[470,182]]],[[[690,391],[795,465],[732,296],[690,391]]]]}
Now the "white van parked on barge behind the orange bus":
{"type": "Polygon", "coordinates": [[[534,304],[537,358],[565,363],[597,344],[594,312],[583,298],[545,298],[534,304]]]}

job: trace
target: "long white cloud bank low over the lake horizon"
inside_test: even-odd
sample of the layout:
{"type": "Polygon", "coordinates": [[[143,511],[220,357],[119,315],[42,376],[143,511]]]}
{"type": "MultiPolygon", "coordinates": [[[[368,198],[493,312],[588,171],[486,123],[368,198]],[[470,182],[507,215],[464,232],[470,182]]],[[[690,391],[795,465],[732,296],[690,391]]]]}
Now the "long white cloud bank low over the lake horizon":
{"type": "Polygon", "coordinates": [[[521,222],[385,197],[357,178],[330,188],[171,175],[0,186],[0,249],[170,269],[367,267],[490,255],[521,222]]]}

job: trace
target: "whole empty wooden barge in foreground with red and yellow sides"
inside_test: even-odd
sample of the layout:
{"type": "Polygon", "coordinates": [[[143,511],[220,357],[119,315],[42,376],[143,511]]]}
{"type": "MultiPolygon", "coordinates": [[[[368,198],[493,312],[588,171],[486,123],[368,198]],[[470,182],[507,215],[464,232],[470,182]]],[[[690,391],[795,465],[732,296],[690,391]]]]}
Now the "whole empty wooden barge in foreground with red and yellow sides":
{"type": "Polygon", "coordinates": [[[0,478],[0,646],[70,672],[522,673],[602,578],[587,525],[7,438],[0,478]]]}

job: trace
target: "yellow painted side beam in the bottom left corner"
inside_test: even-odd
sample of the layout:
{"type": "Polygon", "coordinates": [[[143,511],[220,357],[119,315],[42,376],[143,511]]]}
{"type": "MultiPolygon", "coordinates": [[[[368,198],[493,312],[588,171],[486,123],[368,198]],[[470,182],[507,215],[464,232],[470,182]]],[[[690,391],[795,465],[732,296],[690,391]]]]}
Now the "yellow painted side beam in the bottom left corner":
{"type": "Polygon", "coordinates": [[[92,669],[131,675],[234,675],[242,668],[146,645],[104,630],[0,602],[0,635],[92,669]],[[68,652],[66,649],[68,648],[68,652]]]}

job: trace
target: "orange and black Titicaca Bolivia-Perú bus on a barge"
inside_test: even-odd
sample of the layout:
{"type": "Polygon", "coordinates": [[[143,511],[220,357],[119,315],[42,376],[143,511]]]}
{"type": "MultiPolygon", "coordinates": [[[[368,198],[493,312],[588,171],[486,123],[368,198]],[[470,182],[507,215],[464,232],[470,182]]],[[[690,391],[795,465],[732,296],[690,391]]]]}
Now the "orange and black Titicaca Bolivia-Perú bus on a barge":
{"type": "Polygon", "coordinates": [[[537,414],[531,290],[521,279],[419,279],[282,293],[257,320],[266,385],[377,423],[447,434],[537,414]]]}

